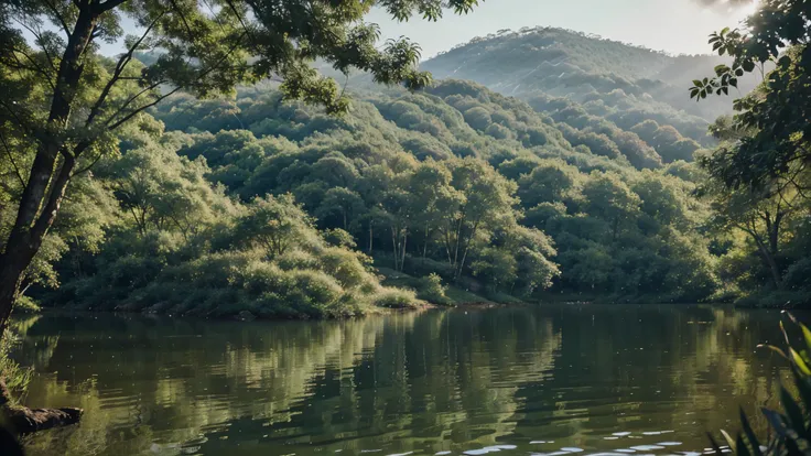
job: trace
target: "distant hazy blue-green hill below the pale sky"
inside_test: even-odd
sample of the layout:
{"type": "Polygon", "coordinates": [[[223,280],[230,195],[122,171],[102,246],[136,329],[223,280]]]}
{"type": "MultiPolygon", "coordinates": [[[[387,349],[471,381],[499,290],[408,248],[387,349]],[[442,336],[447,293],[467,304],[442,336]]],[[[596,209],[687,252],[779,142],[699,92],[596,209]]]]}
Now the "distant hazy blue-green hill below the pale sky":
{"type": "MultiPolygon", "coordinates": [[[[718,56],[669,56],[596,35],[553,29],[501,31],[424,62],[435,78],[475,80],[527,100],[564,97],[578,108],[630,129],[641,120],[675,127],[710,144],[706,124],[732,111],[728,98],[690,100],[690,80],[703,78],[718,56]]],[[[742,93],[758,79],[742,78],[742,93]]]]}

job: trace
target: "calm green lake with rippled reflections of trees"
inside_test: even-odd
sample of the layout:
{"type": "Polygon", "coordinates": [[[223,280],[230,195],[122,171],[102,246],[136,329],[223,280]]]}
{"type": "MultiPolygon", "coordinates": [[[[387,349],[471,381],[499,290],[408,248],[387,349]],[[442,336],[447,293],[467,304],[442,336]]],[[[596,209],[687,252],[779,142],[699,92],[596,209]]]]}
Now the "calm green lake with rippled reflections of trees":
{"type": "Polygon", "coordinates": [[[543,305],[342,322],[17,319],[31,455],[691,454],[777,404],[779,312],[543,305]],[[450,453],[445,453],[450,452],[450,453]]]}

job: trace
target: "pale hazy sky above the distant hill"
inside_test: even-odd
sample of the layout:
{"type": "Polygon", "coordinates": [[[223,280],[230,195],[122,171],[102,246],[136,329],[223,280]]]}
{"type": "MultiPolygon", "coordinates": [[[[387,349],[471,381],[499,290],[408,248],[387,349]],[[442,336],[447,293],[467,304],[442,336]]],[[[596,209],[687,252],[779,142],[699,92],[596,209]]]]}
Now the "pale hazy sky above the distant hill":
{"type": "MultiPolygon", "coordinates": [[[[725,2],[724,0],[717,0],[725,2]]],[[[451,13],[437,23],[392,21],[375,11],[383,37],[408,36],[420,43],[423,58],[500,29],[552,25],[641,44],[673,54],[711,51],[707,35],[735,26],[746,9],[707,8],[702,0],[486,0],[468,15],[451,13]]]]}

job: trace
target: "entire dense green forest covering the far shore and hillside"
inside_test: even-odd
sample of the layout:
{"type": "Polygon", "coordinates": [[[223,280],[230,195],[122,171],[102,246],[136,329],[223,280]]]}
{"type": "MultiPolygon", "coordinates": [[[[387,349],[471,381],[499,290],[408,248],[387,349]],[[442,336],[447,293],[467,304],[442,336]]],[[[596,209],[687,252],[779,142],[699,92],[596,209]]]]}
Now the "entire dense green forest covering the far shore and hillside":
{"type": "MultiPolygon", "coordinates": [[[[520,48],[510,41],[550,33],[638,56],[626,65],[677,64],[556,30],[490,40],[520,48]]],[[[480,43],[489,41],[425,66],[480,43]]],[[[616,89],[578,102],[457,79],[415,93],[353,82],[343,116],[285,101],[274,83],[231,99],[179,94],[142,115],[116,153],[74,180],[22,301],[252,318],[358,315],[421,300],[804,298],[803,214],[781,220],[771,260],[759,258],[759,237],[721,221],[693,160],[731,140],[725,118],[710,135],[694,115],[668,107],[653,116],[646,109],[663,104],[651,97],[635,110],[616,89]]],[[[19,191],[12,171],[6,200],[19,191]]]]}

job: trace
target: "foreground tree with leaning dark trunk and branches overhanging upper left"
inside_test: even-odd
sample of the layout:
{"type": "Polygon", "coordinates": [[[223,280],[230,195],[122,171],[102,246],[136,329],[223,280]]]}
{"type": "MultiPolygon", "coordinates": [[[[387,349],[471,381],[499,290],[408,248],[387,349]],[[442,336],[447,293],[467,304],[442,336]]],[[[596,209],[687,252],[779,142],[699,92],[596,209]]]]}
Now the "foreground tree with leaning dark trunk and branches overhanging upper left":
{"type": "MultiPolygon", "coordinates": [[[[0,327],[18,295],[23,271],[54,222],[72,177],[116,149],[116,131],[164,98],[230,91],[238,82],[273,77],[290,98],[345,111],[337,83],[320,77],[321,57],[344,73],[369,72],[375,82],[419,88],[430,75],[417,69],[420,48],[388,41],[363,23],[375,4],[398,20],[442,15],[440,0],[10,0],[0,4],[0,134],[9,153],[33,156],[17,217],[0,254],[0,327]],[[122,37],[129,18],[139,35],[125,37],[115,59],[99,42],[122,37]],[[55,31],[43,26],[53,25],[55,31]],[[23,29],[34,36],[33,46],[23,29]],[[144,67],[136,53],[156,51],[144,67]],[[249,58],[253,57],[253,58],[249,58]]],[[[456,13],[476,0],[451,0],[456,13]]]]}

